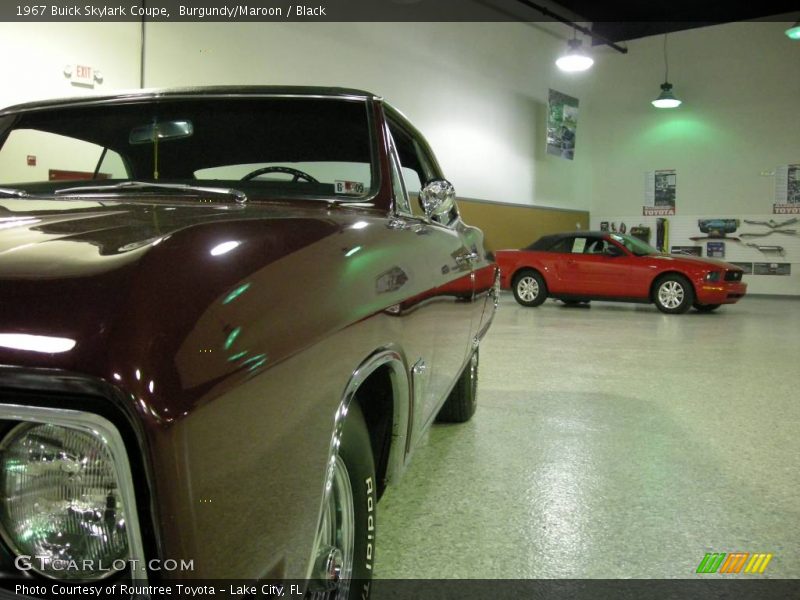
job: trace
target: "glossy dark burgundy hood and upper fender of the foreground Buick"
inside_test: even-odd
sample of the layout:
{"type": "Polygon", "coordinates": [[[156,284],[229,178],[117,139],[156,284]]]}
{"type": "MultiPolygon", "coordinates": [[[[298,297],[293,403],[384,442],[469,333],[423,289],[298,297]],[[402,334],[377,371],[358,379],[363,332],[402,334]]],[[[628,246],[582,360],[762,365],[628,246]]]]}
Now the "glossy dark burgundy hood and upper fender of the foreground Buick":
{"type": "MultiPolygon", "coordinates": [[[[281,259],[291,255],[311,277],[318,245],[346,237],[331,236],[352,222],[348,212],[310,201],[2,199],[0,365],[109,378],[114,364],[141,364],[156,345],[178,353],[203,315],[248,282],[273,289],[272,297],[285,290],[285,278],[269,276],[282,272],[271,269],[281,259]],[[15,347],[20,339],[43,346],[15,347]],[[52,343],[74,349],[53,352],[52,343]]],[[[266,314],[271,307],[253,306],[255,295],[223,306],[226,319],[235,322],[241,310],[266,314]]],[[[222,332],[228,325],[214,327],[229,335],[222,332]]]]}

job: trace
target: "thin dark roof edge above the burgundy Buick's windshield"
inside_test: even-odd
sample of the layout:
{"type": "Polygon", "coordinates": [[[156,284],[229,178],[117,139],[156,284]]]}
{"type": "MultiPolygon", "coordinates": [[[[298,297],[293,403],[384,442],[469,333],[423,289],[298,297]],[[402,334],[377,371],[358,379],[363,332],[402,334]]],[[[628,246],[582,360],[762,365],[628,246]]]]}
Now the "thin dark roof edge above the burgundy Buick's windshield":
{"type": "Polygon", "coordinates": [[[62,108],[70,106],[91,106],[97,104],[127,103],[138,100],[156,100],[160,98],[225,98],[242,96],[307,96],[312,98],[342,98],[360,100],[380,100],[371,92],[353,88],[316,87],[316,86],[203,86],[167,89],[143,89],[121,91],[105,96],[73,96],[69,98],[53,98],[16,104],[0,110],[0,116],[12,113],[62,108]]]}

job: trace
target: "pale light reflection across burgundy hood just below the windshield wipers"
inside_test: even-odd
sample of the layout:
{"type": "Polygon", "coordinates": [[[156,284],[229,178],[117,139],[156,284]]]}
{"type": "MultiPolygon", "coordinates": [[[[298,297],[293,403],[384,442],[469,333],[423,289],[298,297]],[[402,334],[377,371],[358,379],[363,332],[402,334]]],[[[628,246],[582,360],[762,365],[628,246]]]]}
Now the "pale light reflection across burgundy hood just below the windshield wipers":
{"type": "MultiPolygon", "coordinates": [[[[192,226],[238,223],[230,230],[235,236],[238,227],[252,226],[255,220],[263,223],[268,218],[280,223],[299,218],[318,223],[321,212],[318,206],[296,201],[294,206],[276,202],[243,209],[174,199],[163,204],[3,199],[0,277],[90,276],[135,262],[147,250],[192,226]]],[[[222,232],[217,237],[219,243],[226,241],[222,232]]]]}

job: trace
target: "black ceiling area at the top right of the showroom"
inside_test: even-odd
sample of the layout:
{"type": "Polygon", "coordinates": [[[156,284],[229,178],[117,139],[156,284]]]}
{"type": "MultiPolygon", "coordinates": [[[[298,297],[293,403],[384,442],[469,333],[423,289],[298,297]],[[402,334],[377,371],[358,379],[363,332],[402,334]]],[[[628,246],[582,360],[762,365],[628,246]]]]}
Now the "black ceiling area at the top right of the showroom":
{"type": "MultiPolygon", "coordinates": [[[[530,6],[527,2],[522,3],[530,6]]],[[[539,0],[531,3],[539,4],[539,0]]],[[[719,0],[550,0],[548,7],[554,13],[564,16],[571,13],[578,15],[580,20],[590,21],[592,30],[611,42],[733,21],[770,20],[769,17],[790,13],[795,15],[793,18],[798,18],[797,0],[747,3],[719,0]]],[[[597,43],[603,42],[596,40],[597,43]]]]}

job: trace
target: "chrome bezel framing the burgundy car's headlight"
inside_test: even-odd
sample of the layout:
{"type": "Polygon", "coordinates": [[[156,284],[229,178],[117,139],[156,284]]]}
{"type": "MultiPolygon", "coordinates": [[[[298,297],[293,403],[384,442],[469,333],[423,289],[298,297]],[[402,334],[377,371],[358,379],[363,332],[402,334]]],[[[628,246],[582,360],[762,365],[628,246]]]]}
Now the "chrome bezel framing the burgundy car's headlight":
{"type": "MultiPolygon", "coordinates": [[[[136,506],[136,493],[133,487],[128,453],[125,442],[117,428],[107,419],[78,410],[63,408],[45,408],[40,406],[24,406],[18,404],[0,404],[0,420],[21,421],[26,423],[52,424],[71,429],[78,429],[99,437],[111,452],[114,470],[119,482],[120,493],[125,502],[128,530],[129,560],[134,565],[142,565],[141,570],[131,568],[131,579],[137,583],[147,581],[147,570],[144,555],[144,544],[139,525],[139,514],[136,506]]],[[[58,578],[53,578],[60,581],[58,578]]]]}

